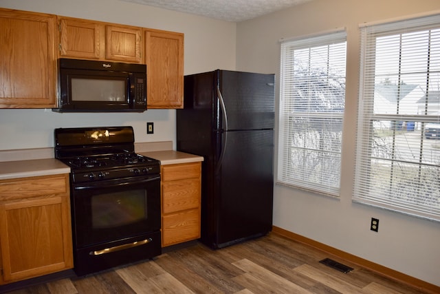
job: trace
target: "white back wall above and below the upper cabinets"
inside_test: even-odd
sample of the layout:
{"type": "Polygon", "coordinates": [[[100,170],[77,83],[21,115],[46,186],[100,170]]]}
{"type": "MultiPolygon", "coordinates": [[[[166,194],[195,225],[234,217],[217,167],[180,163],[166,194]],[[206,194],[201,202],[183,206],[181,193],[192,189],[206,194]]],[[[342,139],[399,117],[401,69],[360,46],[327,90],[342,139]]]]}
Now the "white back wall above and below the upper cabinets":
{"type": "MultiPolygon", "coordinates": [[[[185,74],[235,69],[236,24],[120,0],[1,0],[0,7],[96,21],[108,21],[185,34],[185,74]]],[[[175,110],[142,114],[58,114],[50,109],[0,109],[0,150],[53,147],[56,127],[132,125],[136,142],[172,140],[175,110]],[[146,122],[155,134],[146,135],[146,122]]]]}

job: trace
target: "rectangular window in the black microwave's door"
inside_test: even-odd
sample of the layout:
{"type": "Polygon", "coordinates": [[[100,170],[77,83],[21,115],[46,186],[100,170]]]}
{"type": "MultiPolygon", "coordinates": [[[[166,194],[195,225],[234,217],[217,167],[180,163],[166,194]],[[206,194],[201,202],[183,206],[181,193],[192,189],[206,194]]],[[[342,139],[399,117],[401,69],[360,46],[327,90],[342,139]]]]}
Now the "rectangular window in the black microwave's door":
{"type": "Polygon", "coordinates": [[[125,102],[124,80],[72,78],[72,101],[125,102]]]}

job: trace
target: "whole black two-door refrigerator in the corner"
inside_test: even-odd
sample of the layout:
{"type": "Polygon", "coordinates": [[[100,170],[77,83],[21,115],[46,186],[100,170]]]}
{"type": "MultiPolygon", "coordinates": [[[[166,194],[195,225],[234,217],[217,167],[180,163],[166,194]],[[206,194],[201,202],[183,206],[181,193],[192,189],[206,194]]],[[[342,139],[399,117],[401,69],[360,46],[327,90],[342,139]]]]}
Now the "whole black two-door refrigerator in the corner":
{"type": "Polygon", "coordinates": [[[219,249],[272,230],[274,74],[184,77],[177,150],[203,156],[201,242],[219,249]]]}

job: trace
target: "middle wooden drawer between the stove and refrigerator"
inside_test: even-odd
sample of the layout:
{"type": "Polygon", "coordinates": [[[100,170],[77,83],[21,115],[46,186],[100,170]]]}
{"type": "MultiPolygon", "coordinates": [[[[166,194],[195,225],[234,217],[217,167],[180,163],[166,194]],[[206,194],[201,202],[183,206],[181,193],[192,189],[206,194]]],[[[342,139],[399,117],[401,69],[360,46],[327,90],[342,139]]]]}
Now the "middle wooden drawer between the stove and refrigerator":
{"type": "Polygon", "coordinates": [[[199,179],[164,182],[162,185],[162,209],[172,213],[199,207],[199,179]]]}

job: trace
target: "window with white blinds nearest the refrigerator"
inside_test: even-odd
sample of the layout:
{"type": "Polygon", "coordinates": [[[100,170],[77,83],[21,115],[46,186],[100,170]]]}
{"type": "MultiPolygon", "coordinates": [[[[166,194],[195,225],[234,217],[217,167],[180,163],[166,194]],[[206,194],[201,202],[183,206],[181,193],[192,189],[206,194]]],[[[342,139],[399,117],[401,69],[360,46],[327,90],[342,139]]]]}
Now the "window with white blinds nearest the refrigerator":
{"type": "Polygon", "coordinates": [[[339,196],[347,34],[281,43],[278,182],[339,196]]]}

